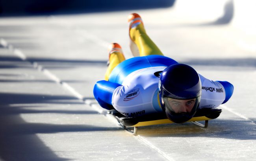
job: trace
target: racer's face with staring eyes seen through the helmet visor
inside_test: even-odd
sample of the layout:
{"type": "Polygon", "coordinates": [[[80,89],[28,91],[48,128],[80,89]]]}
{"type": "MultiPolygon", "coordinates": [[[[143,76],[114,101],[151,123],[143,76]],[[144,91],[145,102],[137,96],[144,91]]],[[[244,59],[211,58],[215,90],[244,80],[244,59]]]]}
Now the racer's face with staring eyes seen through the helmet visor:
{"type": "Polygon", "coordinates": [[[195,105],[195,101],[196,99],[180,100],[167,98],[169,106],[171,106],[175,113],[191,112],[195,105]]]}

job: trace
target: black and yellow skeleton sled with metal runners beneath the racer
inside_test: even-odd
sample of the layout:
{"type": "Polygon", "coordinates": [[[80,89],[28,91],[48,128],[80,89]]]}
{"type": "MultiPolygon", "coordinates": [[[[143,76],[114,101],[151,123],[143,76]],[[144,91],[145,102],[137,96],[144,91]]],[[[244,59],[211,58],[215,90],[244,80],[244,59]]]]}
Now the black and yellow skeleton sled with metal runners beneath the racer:
{"type": "MultiPolygon", "coordinates": [[[[202,109],[198,110],[197,113],[192,117],[189,121],[197,126],[202,128],[208,127],[208,120],[216,119],[221,114],[221,109],[202,109]],[[200,124],[197,121],[205,121],[204,124],[200,124]]],[[[137,127],[139,126],[149,126],[149,125],[156,125],[156,124],[167,124],[173,123],[170,121],[165,113],[160,114],[152,114],[152,115],[145,115],[145,116],[138,116],[138,117],[126,117],[121,113],[117,112],[117,110],[109,110],[108,113],[117,119],[118,124],[128,132],[132,134],[137,134],[137,127]],[[134,128],[133,130],[131,130],[134,128]]]]}

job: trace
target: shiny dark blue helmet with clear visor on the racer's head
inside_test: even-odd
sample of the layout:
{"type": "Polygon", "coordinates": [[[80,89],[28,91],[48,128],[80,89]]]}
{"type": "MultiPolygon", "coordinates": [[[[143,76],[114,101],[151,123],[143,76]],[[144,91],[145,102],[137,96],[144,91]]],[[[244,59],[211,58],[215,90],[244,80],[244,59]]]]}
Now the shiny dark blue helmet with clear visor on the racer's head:
{"type": "Polygon", "coordinates": [[[201,99],[197,71],[186,64],[173,64],[161,73],[159,96],[163,111],[174,123],[184,123],[197,112],[201,99]]]}

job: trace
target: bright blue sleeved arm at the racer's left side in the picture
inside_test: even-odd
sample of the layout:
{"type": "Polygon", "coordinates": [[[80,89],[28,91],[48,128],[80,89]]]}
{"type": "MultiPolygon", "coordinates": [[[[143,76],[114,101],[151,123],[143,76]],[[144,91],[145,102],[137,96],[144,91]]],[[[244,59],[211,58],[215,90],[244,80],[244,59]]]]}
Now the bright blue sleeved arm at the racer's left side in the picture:
{"type": "Polygon", "coordinates": [[[106,80],[100,80],[96,82],[93,88],[93,94],[100,106],[107,110],[113,109],[112,95],[114,90],[121,86],[121,84],[109,82],[106,80]]]}

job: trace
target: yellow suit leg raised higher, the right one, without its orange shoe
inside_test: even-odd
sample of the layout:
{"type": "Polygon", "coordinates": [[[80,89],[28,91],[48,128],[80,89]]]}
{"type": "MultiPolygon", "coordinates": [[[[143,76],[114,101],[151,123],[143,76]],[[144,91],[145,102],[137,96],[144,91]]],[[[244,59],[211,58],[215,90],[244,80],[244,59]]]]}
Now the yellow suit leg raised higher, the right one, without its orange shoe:
{"type": "Polygon", "coordinates": [[[139,56],[163,55],[156,44],[148,37],[142,23],[130,29],[130,37],[139,49],[139,56]]]}

